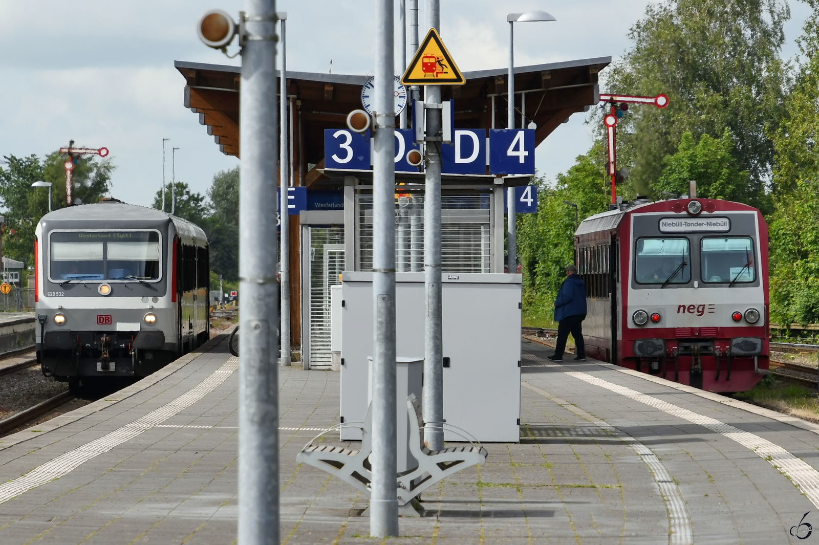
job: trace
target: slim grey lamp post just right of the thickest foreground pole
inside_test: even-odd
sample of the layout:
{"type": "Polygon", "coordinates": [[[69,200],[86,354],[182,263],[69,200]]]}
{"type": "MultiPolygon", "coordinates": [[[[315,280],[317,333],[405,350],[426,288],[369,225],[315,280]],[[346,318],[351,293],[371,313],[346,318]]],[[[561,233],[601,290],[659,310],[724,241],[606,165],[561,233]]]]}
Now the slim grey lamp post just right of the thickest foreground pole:
{"type": "Polygon", "coordinates": [[[281,70],[278,72],[278,113],[279,113],[279,152],[278,152],[278,179],[279,205],[278,214],[281,221],[282,274],[282,349],[280,365],[290,367],[290,210],[287,208],[287,187],[290,187],[290,153],[287,146],[287,34],[285,34],[287,14],[279,14],[281,29],[282,52],[281,70]]]}

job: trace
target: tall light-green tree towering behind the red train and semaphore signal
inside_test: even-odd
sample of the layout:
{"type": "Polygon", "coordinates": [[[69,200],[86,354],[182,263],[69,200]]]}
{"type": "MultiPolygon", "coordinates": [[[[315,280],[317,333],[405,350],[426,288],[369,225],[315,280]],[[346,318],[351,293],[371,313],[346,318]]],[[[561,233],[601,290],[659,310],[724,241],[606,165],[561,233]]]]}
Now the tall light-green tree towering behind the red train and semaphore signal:
{"type": "Polygon", "coordinates": [[[618,125],[621,163],[648,194],[684,133],[734,139],[731,155],[761,194],[773,146],[767,130],[782,116],[787,66],[779,56],[790,9],[782,0],[671,0],[652,2],[631,27],[634,45],[609,70],[610,92],[654,96],[669,105],[632,108],[618,125]]]}

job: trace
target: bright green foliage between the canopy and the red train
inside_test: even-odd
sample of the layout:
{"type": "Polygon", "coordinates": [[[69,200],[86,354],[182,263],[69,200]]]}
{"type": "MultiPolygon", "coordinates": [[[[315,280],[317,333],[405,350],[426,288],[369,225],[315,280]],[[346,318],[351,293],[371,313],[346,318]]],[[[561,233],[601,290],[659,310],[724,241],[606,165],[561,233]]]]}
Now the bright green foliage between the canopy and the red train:
{"type": "Polygon", "coordinates": [[[523,315],[528,323],[546,325],[554,312],[554,297],[574,262],[574,208],[578,221],[607,209],[609,190],[600,144],[580,155],[555,187],[540,180],[537,212],[518,214],[518,256],[523,273],[523,315]]]}

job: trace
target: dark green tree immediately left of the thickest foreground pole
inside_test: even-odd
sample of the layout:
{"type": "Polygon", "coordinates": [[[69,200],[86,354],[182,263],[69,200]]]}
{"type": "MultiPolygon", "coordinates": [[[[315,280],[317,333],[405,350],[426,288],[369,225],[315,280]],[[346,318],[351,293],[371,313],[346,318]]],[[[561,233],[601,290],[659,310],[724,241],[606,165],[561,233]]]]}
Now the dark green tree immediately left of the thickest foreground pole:
{"type": "Polygon", "coordinates": [[[208,190],[213,209],[210,268],[230,282],[239,277],[239,167],[216,173],[208,190]]]}

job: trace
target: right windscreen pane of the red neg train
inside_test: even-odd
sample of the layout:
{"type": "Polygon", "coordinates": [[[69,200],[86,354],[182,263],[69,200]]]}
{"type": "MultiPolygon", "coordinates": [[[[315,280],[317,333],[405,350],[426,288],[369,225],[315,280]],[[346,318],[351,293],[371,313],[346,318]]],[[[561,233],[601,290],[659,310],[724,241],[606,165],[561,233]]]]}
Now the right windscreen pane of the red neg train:
{"type": "Polygon", "coordinates": [[[753,282],[753,241],[749,236],[702,241],[703,282],[753,282]]]}

